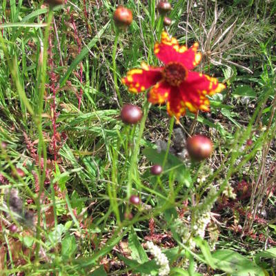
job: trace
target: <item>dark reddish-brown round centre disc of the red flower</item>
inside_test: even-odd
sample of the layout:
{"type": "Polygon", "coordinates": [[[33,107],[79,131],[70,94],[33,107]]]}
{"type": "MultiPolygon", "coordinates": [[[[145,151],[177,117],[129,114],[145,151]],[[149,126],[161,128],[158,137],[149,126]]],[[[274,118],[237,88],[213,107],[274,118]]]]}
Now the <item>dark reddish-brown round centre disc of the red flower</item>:
{"type": "Polygon", "coordinates": [[[187,69],[181,63],[170,62],[164,67],[162,75],[171,86],[179,86],[186,79],[187,73],[187,69]]]}

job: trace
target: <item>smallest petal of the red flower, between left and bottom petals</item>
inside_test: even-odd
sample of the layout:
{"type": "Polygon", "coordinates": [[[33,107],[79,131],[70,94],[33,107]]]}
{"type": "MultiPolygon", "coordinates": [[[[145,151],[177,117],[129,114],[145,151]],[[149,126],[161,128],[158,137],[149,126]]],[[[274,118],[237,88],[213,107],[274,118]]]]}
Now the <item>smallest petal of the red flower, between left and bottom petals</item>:
{"type": "Polygon", "coordinates": [[[159,81],[148,92],[148,101],[150,103],[164,103],[168,99],[171,86],[166,81],[159,81]]]}

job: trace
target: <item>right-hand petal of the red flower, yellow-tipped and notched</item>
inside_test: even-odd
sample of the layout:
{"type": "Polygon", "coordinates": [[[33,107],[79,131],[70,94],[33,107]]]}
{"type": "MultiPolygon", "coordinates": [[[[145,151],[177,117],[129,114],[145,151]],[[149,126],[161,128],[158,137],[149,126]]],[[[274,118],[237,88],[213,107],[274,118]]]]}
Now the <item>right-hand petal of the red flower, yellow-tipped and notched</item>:
{"type": "Polygon", "coordinates": [[[210,101],[206,95],[221,92],[226,86],[217,79],[198,72],[188,72],[186,80],[179,86],[181,101],[190,112],[209,111],[210,101]]]}

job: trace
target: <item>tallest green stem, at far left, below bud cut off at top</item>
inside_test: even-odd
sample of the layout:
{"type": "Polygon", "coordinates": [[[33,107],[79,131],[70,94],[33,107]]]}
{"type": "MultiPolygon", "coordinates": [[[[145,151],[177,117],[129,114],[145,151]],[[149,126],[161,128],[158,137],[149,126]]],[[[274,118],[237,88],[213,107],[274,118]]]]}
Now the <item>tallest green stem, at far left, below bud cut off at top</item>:
{"type": "MultiPolygon", "coordinates": [[[[39,173],[39,193],[37,198],[35,199],[35,203],[37,205],[37,241],[40,239],[40,221],[41,221],[41,204],[40,204],[40,197],[44,188],[44,181],[46,177],[46,159],[47,159],[47,152],[46,152],[46,144],[44,143],[43,139],[43,131],[42,131],[42,112],[43,112],[43,99],[44,99],[44,91],[45,91],[45,83],[46,83],[46,70],[47,70],[47,58],[48,58],[48,40],[50,34],[50,25],[52,23],[53,18],[53,10],[52,6],[49,7],[48,12],[48,20],[47,26],[44,32],[44,39],[43,39],[43,60],[41,66],[41,83],[39,89],[39,103],[37,108],[37,114],[34,114],[34,121],[37,124],[37,130],[39,134],[39,146],[38,146],[38,154],[39,154],[39,172],[41,172],[41,156],[43,152],[43,170],[42,175],[39,173]],[[41,152],[42,151],[42,152],[41,152]]],[[[39,259],[39,243],[36,245],[35,255],[38,262],[39,259]]]]}

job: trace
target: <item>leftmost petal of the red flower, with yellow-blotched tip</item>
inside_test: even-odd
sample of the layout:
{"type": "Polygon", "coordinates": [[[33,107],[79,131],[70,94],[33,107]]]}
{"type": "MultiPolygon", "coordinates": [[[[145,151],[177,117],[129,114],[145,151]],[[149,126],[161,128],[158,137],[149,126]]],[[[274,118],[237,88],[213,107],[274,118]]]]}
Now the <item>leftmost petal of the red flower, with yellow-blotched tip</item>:
{"type": "Polygon", "coordinates": [[[142,92],[150,86],[154,86],[162,78],[162,68],[150,67],[145,63],[142,63],[141,67],[128,71],[126,77],[121,79],[121,82],[128,86],[130,92],[142,92]]]}

